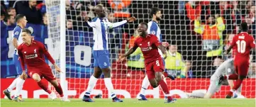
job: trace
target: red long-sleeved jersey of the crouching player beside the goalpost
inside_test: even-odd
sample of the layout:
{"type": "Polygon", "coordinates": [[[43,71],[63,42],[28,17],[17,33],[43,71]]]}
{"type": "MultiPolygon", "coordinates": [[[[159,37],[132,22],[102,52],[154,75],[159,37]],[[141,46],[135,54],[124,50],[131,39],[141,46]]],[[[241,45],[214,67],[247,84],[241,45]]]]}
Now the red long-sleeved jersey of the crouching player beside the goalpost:
{"type": "Polygon", "coordinates": [[[25,70],[25,64],[27,64],[28,69],[47,67],[48,64],[45,62],[44,55],[52,64],[55,63],[45,45],[39,41],[32,40],[30,45],[22,43],[18,46],[18,56],[23,70],[25,70]]]}

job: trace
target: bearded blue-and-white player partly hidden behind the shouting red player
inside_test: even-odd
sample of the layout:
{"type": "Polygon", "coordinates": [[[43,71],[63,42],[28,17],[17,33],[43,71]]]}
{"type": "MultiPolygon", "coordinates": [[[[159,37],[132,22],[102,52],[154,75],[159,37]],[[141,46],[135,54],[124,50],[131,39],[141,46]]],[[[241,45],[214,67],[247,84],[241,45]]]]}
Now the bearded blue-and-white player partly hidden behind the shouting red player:
{"type": "MultiPolygon", "coordinates": [[[[150,11],[150,16],[152,17],[152,21],[148,23],[148,34],[156,35],[158,40],[162,43],[162,34],[161,30],[158,26],[159,21],[162,19],[162,13],[160,9],[158,8],[152,8],[150,11]]],[[[162,57],[163,64],[165,66],[165,59],[162,55],[162,52],[160,49],[158,49],[158,52],[160,53],[162,57]]],[[[175,78],[172,76],[172,74],[167,74],[167,72],[164,73],[165,77],[169,77],[170,79],[174,80],[175,78]]],[[[148,101],[148,99],[145,97],[145,91],[148,89],[148,86],[150,85],[150,81],[148,81],[148,77],[145,76],[143,79],[143,84],[140,89],[140,95],[138,96],[138,100],[142,101],[148,101]]]]}

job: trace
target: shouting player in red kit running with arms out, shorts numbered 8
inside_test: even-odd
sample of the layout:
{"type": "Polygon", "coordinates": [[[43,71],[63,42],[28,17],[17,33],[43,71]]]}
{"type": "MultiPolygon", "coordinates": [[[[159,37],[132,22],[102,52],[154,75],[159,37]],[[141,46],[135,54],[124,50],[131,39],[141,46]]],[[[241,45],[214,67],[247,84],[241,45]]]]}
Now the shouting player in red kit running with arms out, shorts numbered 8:
{"type": "Polygon", "coordinates": [[[174,103],[176,99],[172,98],[169,94],[169,89],[167,84],[162,79],[162,73],[164,72],[165,65],[163,64],[162,57],[160,56],[158,49],[166,55],[165,47],[161,45],[160,41],[155,35],[147,33],[148,24],[140,23],[138,26],[138,33],[140,37],[135,40],[133,47],[126,52],[125,55],[119,57],[118,62],[123,61],[126,57],[132,54],[138,47],[140,47],[145,58],[145,69],[148,75],[148,80],[153,88],[161,86],[162,91],[164,91],[167,96],[166,103],[174,103]]]}

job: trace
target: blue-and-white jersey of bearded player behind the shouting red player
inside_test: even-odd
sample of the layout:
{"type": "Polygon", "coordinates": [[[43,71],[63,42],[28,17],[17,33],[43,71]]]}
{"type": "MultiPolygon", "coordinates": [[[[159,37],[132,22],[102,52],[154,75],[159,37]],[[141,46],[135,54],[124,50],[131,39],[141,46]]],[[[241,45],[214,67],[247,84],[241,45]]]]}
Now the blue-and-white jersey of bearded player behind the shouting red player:
{"type": "MultiPolygon", "coordinates": [[[[157,25],[157,22],[150,21],[148,23],[148,34],[156,35],[158,40],[160,40],[160,42],[162,43],[162,34],[159,26],[157,25]]],[[[160,49],[158,49],[158,52],[160,53],[161,57],[163,57],[160,49]]]]}

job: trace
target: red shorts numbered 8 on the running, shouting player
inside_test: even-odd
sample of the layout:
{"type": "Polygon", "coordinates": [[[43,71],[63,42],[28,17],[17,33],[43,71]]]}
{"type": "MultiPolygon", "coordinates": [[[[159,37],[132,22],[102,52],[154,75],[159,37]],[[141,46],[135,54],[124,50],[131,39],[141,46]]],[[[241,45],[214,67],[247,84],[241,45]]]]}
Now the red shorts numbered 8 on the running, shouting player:
{"type": "Polygon", "coordinates": [[[162,62],[162,58],[157,58],[157,60],[152,62],[145,62],[145,69],[148,75],[148,79],[155,79],[155,72],[163,72],[165,65],[162,62]]]}

